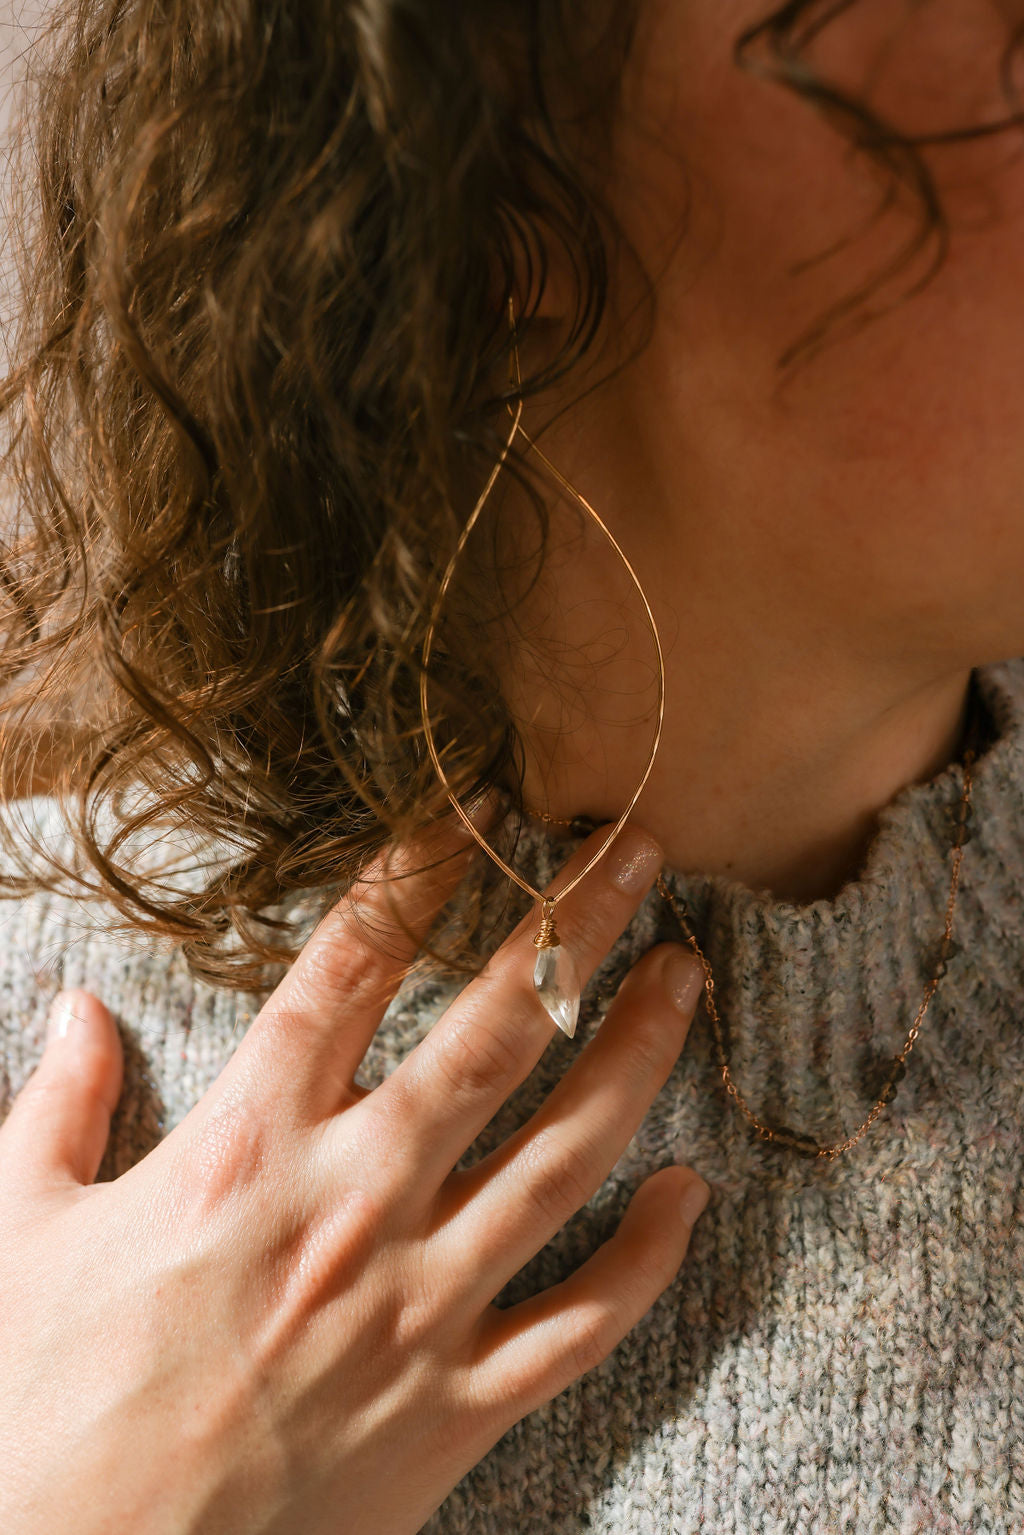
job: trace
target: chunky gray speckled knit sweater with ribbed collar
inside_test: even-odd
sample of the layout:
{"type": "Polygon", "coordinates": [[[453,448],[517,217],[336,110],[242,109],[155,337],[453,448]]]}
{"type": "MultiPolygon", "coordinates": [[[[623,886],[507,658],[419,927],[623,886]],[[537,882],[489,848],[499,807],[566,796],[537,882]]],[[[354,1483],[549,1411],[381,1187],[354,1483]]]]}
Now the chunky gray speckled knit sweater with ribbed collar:
{"type": "MultiPolygon", "coordinates": [[[[1024,660],[983,668],[978,683],[990,741],[953,927],[963,952],[895,1102],[835,1162],[771,1148],[725,1099],[702,1005],[613,1176],[497,1300],[573,1273],[674,1160],[712,1188],[679,1277],[603,1366],[504,1435],[424,1535],[1024,1532],[1024,660]]],[[[961,789],[958,764],[904,789],[832,901],[672,875],[714,969],[735,1081],[761,1117],[820,1141],[864,1119],[866,1067],[901,1048],[933,973],[961,789]]],[[[519,858],[545,878],[565,853],[534,834],[519,858]]],[[[114,941],[68,901],[9,906],[5,924],[0,1114],[41,1051],[52,993],[89,987],[126,1045],[100,1174],[117,1176],[203,1094],[258,999],[193,982],[178,955],[114,941]]],[[[576,1039],[553,1036],[467,1162],[542,1102],[628,966],[677,936],[652,892],[576,1039]]],[[[444,999],[438,985],[399,998],[367,1082],[444,999]]]]}

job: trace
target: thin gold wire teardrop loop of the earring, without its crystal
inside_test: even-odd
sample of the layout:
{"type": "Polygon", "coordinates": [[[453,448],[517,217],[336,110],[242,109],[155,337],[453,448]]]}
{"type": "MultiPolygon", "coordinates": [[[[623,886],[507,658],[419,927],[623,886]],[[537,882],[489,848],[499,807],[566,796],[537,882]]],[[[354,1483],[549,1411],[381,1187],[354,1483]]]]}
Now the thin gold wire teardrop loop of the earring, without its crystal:
{"type": "Polygon", "coordinates": [[[513,418],[513,425],[511,425],[511,431],[508,433],[508,439],[505,441],[505,445],[504,445],[504,448],[500,451],[497,464],[491,470],[491,473],[490,473],[490,476],[487,479],[487,485],[481,491],[481,496],[479,496],[479,499],[477,499],[473,511],[470,513],[462,533],[459,534],[459,540],[457,540],[457,543],[454,546],[451,559],[448,560],[445,573],[444,573],[444,576],[441,579],[441,586],[438,588],[438,596],[434,597],[434,603],[433,603],[433,608],[430,611],[430,620],[427,623],[427,634],[424,635],[422,665],[421,665],[421,672],[419,672],[419,711],[421,711],[421,715],[422,715],[424,738],[427,741],[427,752],[430,754],[431,766],[433,766],[434,772],[438,774],[438,778],[441,780],[441,786],[444,787],[445,794],[448,795],[448,800],[451,803],[453,810],[456,812],[456,815],[459,817],[459,820],[462,821],[462,824],[467,827],[467,830],[471,834],[471,837],[484,849],[484,852],[499,866],[499,869],[505,875],[508,875],[508,878],[513,880],[514,884],[517,884],[520,890],[525,890],[527,895],[531,895],[534,901],[540,901],[540,904],[545,907],[545,910],[550,909],[553,912],[556,903],[560,901],[563,896],[567,896],[570,893],[570,890],[574,890],[576,886],[605,857],[605,853],[608,852],[608,849],[614,843],[616,837],[619,835],[619,832],[622,830],[622,827],[629,820],[629,815],[633,814],[633,809],[634,809],[637,800],[640,798],[640,795],[643,794],[643,789],[646,786],[648,778],[651,777],[651,769],[654,768],[654,758],[657,757],[657,749],[659,749],[659,744],[662,741],[662,726],[665,723],[665,654],[662,651],[662,637],[660,637],[660,634],[657,631],[657,623],[654,622],[654,614],[651,611],[651,603],[648,602],[646,593],[645,593],[643,586],[640,585],[640,579],[639,579],[637,573],[634,571],[633,565],[629,563],[629,560],[626,559],[625,553],[622,551],[622,546],[620,546],[619,540],[616,539],[616,536],[613,534],[611,528],[606,527],[606,523],[603,522],[603,519],[594,511],[594,508],[586,500],[586,497],[582,496],[580,491],[577,491],[576,487],[571,485],[570,480],[565,479],[565,476],[554,467],[554,464],[547,456],[547,453],[543,453],[537,447],[537,444],[533,441],[533,437],[520,425],[520,422],[522,422],[522,376],[520,376],[520,371],[519,371],[519,347],[517,347],[517,341],[516,341],[516,307],[514,307],[514,302],[513,302],[511,298],[508,299],[508,325],[510,325],[510,330],[511,330],[511,373],[510,373],[510,382],[514,385],[516,393],[517,393],[516,405],[513,407],[511,402],[508,404],[508,414],[513,418]],[[611,543],[613,550],[616,551],[616,554],[619,556],[619,559],[625,565],[626,571],[629,573],[629,579],[633,580],[633,585],[636,586],[636,589],[637,589],[637,593],[640,596],[640,602],[643,603],[643,611],[646,614],[646,620],[648,620],[648,625],[651,628],[651,634],[654,637],[654,648],[657,651],[657,726],[656,726],[656,731],[654,731],[654,740],[651,743],[651,754],[648,757],[646,768],[643,769],[643,777],[640,778],[640,783],[637,784],[637,787],[636,787],[636,791],[633,794],[633,798],[629,800],[628,806],[625,807],[625,810],[622,812],[622,815],[619,817],[619,820],[613,826],[613,829],[608,834],[608,837],[605,837],[603,843],[600,844],[600,847],[597,849],[597,852],[594,853],[594,857],[588,860],[588,863],[585,864],[585,867],[580,869],[579,873],[574,875],[573,880],[570,880],[570,883],[567,886],[563,886],[562,890],[557,890],[557,892],[554,892],[551,895],[543,895],[540,890],[534,890],[534,887],[527,880],[524,880],[522,875],[519,875],[516,872],[516,869],[511,867],[511,864],[507,864],[505,860],[499,853],[494,852],[494,849],[491,847],[491,844],[487,841],[485,837],[481,835],[481,832],[476,829],[476,826],[473,824],[473,821],[470,820],[470,817],[467,815],[467,812],[462,809],[462,806],[461,806],[459,800],[456,798],[456,795],[451,792],[451,786],[450,786],[447,774],[445,774],[445,771],[444,771],[444,768],[441,764],[441,758],[438,755],[438,748],[434,744],[433,729],[430,726],[430,708],[428,708],[428,698],[427,698],[427,668],[430,665],[430,655],[431,655],[433,642],[434,642],[434,629],[438,626],[438,616],[441,612],[441,606],[444,603],[444,599],[445,599],[445,594],[448,591],[448,586],[451,585],[451,577],[454,574],[454,568],[457,565],[459,556],[462,554],[462,551],[464,551],[464,548],[467,545],[467,540],[468,540],[470,534],[473,533],[476,520],[481,516],[481,511],[484,510],[484,505],[487,503],[487,497],[490,496],[491,490],[494,488],[494,480],[497,479],[497,476],[500,474],[500,471],[502,471],[502,468],[505,465],[505,460],[507,460],[507,457],[508,457],[508,454],[511,451],[511,445],[516,441],[516,433],[517,431],[522,433],[525,442],[528,444],[530,448],[533,448],[533,451],[537,454],[537,457],[543,464],[547,464],[548,470],[551,471],[551,474],[554,474],[554,477],[559,482],[559,485],[562,485],[562,488],[567,490],[570,493],[570,496],[573,496],[574,500],[577,500],[580,503],[580,507],[583,507],[583,510],[593,517],[593,520],[597,523],[597,527],[605,534],[605,537],[611,543]]]}

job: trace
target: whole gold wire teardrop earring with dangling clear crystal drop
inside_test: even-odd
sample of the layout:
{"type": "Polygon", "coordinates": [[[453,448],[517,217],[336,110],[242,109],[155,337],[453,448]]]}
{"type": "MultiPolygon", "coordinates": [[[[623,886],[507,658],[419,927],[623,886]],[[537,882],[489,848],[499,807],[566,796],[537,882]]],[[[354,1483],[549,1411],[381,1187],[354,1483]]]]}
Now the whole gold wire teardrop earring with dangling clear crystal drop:
{"type": "Polygon", "coordinates": [[[633,565],[629,563],[629,560],[623,554],[623,551],[619,546],[619,542],[616,540],[614,534],[605,525],[605,522],[599,517],[599,514],[594,511],[594,508],[586,500],[586,497],[582,496],[580,491],[577,491],[576,487],[570,484],[570,480],[567,480],[567,477],[554,467],[554,464],[547,456],[547,453],[543,453],[537,447],[537,444],[533,441],[533,437],[530,437],[528,433],[522,427],[522,376],[520,376],[520,371],[519,371],[519,347],[517,347],[516,307],[514,307],[514,302],[513,302],[511,298],[508,299],[508,325],[510,325],[510,332],[511,332],[510,387],[514,388],[514,391],[516,391],[516,401],[514,401],[514,404],[511,401],[508,402],[508,414],[511,416],[511,430],[510,430],[508,439],[505,441],[505,445],[504,445],[504,448],[502,448],[502,451],[499,454],[497,464],[491,470],[491,473],[490,473],[490,476],[487,479],[487,484],[485,484],[484,490],[481,491],[481,496],[479,496],[479,499],[477,499],[473,511],[470,513],[468,520],[467,520],[462,533],[459,534],[459,540],[457,540],[457,543],[454,546],[454,553],[451,554],[451,559],[448,560],[445,573],[444,573],[444,576],[441,579],[441,585],[438,588],[438,596],[434,597],[434,603],[433,603],[433,608],[430,611],[430,619],[427,622],[427,632],[424,635],[424,646],[422,646],[422,657],[421,657],[419,709],[421,709],[422,726],[424,726],[424,738],[425,738],[425,743],[427,743],[427,751],[430,754],[430,761],[431,761],[431,766],[433,766],[434,772],[438,774],[438,778],[441,780],[441,784],[442,784],[442,787],[444,787],[444,791],[445,791],[450,803],[451,803],[453,810],[456,812],[456,815],[459,817],[459,820],[464,823],[464,826],[467,827],[467,830],[471,834],[471,837],[479,843],[479,846],[488,855],[488,858],[491,858],[491,861],[496,863],[499,866],[499,869],[502,869],[502,872],[514,884],[519,886],[520,890],[525,890],[527,895],[533,896],[533,900],[537,901],[537,904],[540,907],[540,926],[539,926],[539,929],[537,929],[537,932],[534,935],[534,939],[533,939],[534,946],[537,949],[537,958],[536,958],[534,969],[533,969],[533,985],[534,985],[534,990],[536,990],[536,993],[537,993],[542,1005],[545,1007],[545,1010],[548,1012],[548,1015],[551,1016],[551,1019],[571,1039],[573,1035],[576,1033],[576,1021],[579,1018],[580,978],[579,978],[579,970],[577,970],[577,966],[576,966],[576,961],[574,961],[571,952],[568,949],[565,949],[562,946],[560,939],[559,939],[559,930],[556,927],[554,912],[556,912],[556,907],[557,907],[559,901],[565,900],[565,896],[570,893],[570,890],[574,890],[576,886],[582,880],[585,880],[586,875],[591,872],[591,869],[594,869],[596,864],[600,863],[600,860],[605,857],[605,853],[608,852],[608,849],[614,843],[616,837],[619,835],[619,832],[622,830],[622,827],[629,820],[629,815],[633,814],[633,807],[636,806],[637,800],[640,798],[640,795],[643,792],[643,787],[645,787],[648,778],[651,777],[651,769],[654,768],[654,758],[657,757],[659,743],[662,740],[662,725],[665,721],[665,657],[662,654],[662,639],[660,639],[659,631],[657,631],[657,623],[654,622],[654,614],[651,612],[651,603],[648,602],[646,593],[643,591],[643,586],[640,585],[640,579],[639,579],[637,573],[634,571],[633,565]],[[568,494],[573,496],[573,499],[583,508],[583,511],[597,523],[597,527],[605,534],[606,540],[611,543],[613,550],[616,551],[616,554],[619,556],[619,559],[625,565],[626,571],[629,573],[629,579],[633,580],[633,585],[636,586],[636,589],[637,589],[637,593],[640,596],[640,602],[643,603],[643,611],[646,614],[646,620],[648,620],[648,625],[651,628],[651,635],[654,639],[654,648],[657,651],[657,668],[659,668],[657,726],[656,726],[656,731],[654,731],[654,741],[651,744],[651,752],[649,752],[649,757],[648,757],[648,761],[646,761],[646,768],[643,769],[643,777],[640,778],[640,783],[634,789],[633,797],[631,797],[628,806],[625,807],[625,810],[622,812],[622,815],[619,817],[619,820],[616,821],[616,824],[613,826],[611,832],[603,840],[603,843],[600,844],[600,847],[597,849],[597,852],[594,853],[594,857],[590,858],[588,863],[585,864],[585,867],[580,869],[579,873],[576,873],[560,890],[556,890],[556,892],[553,892],[551,895],[547,895],[547,896],[542,895],[540,890],[534,890],[534,887],[527,880],[524,880],[522,875],[519,875],[516,869],[513,869],[510,864],[507,864],[505,860],[500,858],[499,853],[494,852],[494,849],[490,846],[490,843],[487,841],[487,838],[482,837],[481,832],[476,829],[476,826],[473,824],[473,821],[467,815],[465,809],[459,804],[456,795],[451,792],[451,786],[448,783],[448,778],[445,775],[444,766],[441,763],[441,757],[438,755],[438,748],[434,744],[433,729],[430,726],[430,706],[428,706],[428,698],[427,698],[427,674],[428,674],[430,655],[431,655],[433,642],[434,642],[434,629],[438,626],[438,616],[441,612],[441,606],[444,603],[444,599],[445,599],[445,594],[448,591],[448,586],[451,585],[451,577],[453,577],[454,568],[456,568],[456,565],[459,562],[459,556],[462,554],[462,551],[464,551],[464,548],[465,548],[465,545],[468,542],[468,537],[473,533],[473,528],[476,527],[476,522],[477,522],[477,519],[479,519],[479,516],[481,516],[481,513],[482,513],[482,510],[484,510],[484,507],[487,503],[487,497],[490,496],[491,490],[494,488],[494,482],[497,480],[497,476],[500,474],[500,471],[502,471],[502,468],[504,468],[504,465],[505,465],[505,462],[508,459],[508,454],[511,453],[513,444],[516,441],[516,434],[519,434],[519,436],[524,437],[524,441],[527,442],[527,445],[531,448],[533,453],[536,453],[536,456],[542,460],[542,464],[547,465],[547,468],[554,476],[554,479],[559,482],[559,485],[565,491],[568,491],[568,494]]]}

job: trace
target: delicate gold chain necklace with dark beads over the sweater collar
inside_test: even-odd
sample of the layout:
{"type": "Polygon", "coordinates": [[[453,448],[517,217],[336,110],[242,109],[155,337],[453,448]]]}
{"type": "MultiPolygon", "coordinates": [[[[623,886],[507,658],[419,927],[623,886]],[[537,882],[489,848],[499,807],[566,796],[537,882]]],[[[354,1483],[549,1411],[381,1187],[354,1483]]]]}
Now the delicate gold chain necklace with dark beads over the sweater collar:
{"type": "MultiPolygon", "coordinates": [[[[841,1156],[844,1151],[849,1151],[851,1147],[857,1145],[857,1142],[861,1139],[861,1136],[864,1136],[866,1131],[874,1125],[875,1119],[878,1119],[878,1114],[883,1111],[883,1108],[887,1104],[890,1104],[894,1101],[894,1098],[897,1096],[897,1084],[901,1082],[903,1078],[906,1076],[906,1071],[907,1071],[906,1061],[907,1061],[907,1056],[910,1055],[910,1051],[913,1050],[913,1044],[915,1044],[915,1041],[918,1038],[918,1033],[921,1032],[921,1024],[924,1022],[924,1015],[927,1013],[929,1004],[930,1004],[932,998],[935,996],[935,992],[938,989],[938,982],[946,975],[946,967],[947,967],[949,959],[956,952],[956,949],[955,949],[955,946],[952,942],[953,912],[956,909],[956,892],[960,889],[960,866],[961,866],[963,855],[964,855],[964,834],[967,832],[967,829],[970,826],[970,818],[972,818],[972,814],[973,814],[972,807],[970,807],[970,791],[972,791],[972,783],[973,783],[973,777],[972,777],[972,771],[970,769],[972,769],[973,761],[975,761],[975,752],[973,752],[973,749],[966,751],[964,757],[963,757],[964,791],[963,791],[963,795],[960,798],[960,804],[956,807],[956,823],[955,823],[956,837],[955,837],[953,849],[952,849],[952,852],[953,852],[953,876],[952,876],[950,887],[949,887],[949,901],[946,904],[946,930],[943,933],[943,942],[941,942],[941,947],[940,947],[940,959],[938,959],[938,966],[936,966],[935,975],[932,976],[932,979],[929,981],[929,984],[924,989],[924,998],[923,998],[921,1005],[918,1008],[917,1018],[913,1019],[913,1027],[910,1028],[910,1033],[906,1038],[903,1050],[900,1050],[898,1055],[892,1056],[890,1062],[887,1064],[887,1076],[886,1076],[884,1085],[881,1088],[881,1096],[878,1098],[875,1107],[867,1114],[867,1119],[864,1119],[864,1122],[860,1127],[860,1130],[857,1130],[855,1134],[849,1136],[846,1141],[837,1141],[832,1145],[818,1145],[818,1142],[812,1136],[800,1134],[797,1130],[791,1130],[788,1125],[766,1125],[751,1110],[749,1104],[746,1102],[746,1099],[740,1093],[738,1087],[732,1081],[732,1073],[729,1071],[729,1062],[728,1062],[726,1053],[725,1053],[725,1041],[722,1038],[722,1022],[718,1019],[718,1010],[717,1010],[715,1001],[714,1001],[715,984],[714,984],[714,976],[711,973],[711,964],[708,962],[708,956],[703,953],[700,944],[697,942],[697,939],[694,936],[694,932],[692,932],[692,929],[689,926],[689,921],[688,921],[688,916],[686,916],[686,907],[671,892],[671,889],[668,887],[668,883],[665,880],[665,875],[659,873],[659,876],[657,876],[657,889],[662,893],[662,896],[665,898],[665,901],[668,901],[669,907],[672,909],[672,912],[676,915],[676,919],[677,919],[679,926],[683,930],[686,942],[689,944],[689,947],[692,949],[692,952],[697,955],[697,958],[699,958],[699,961],[700,961],[700,964],[703,967],[703,972],[705,972],[705,998],[706,998],[708,1013],[711,1016],[711,1022],[712,1022],[712,1027],[714,1027],[715,1047],[717,1047],[717,1053],[718,1053],[718,1068],[720,1068],[720,1073],[722,1073],[722,1084],[725,1087],[726,1094],[735,1102],[735,1105],[740,1110],[740,1113],[745,1114],[745,1117],[749,1121],[751,1127],[754,1128],[754,1131],[757,1133],[757,1136],[761,1141],[771,1141],[771,1142],[775,1142],[778,1145],[788,1145],[791,1150],[797,1151],[800,1156],[808,1156],[808,1157],[815,1157],[815,1159],[817,1157],[827,1157],[829,1160],[834,1160],[837,1156],[841,1156]]],[[[548,821],[553,826],[570,826],[571,827],[571,826],[580,826],[582,824],[580,820],[570,820],[570,821],[567,821],[567,820],[562,820],[560,817],[556,817],[556,815],[545,815],[540,810],[528,810],[527,814],[536,817],[536,820],[539,820],[539,821],[548,821]]]]}

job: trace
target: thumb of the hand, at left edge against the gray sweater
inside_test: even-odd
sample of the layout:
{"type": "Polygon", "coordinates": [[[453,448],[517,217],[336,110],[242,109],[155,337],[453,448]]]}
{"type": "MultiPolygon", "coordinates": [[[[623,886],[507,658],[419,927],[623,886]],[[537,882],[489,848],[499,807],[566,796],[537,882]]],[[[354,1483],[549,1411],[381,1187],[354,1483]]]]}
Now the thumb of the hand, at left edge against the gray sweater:
{"type": "Polygon", "coordinates": [[[91,992],[60,992],[46,1050],[0,1130],[0,1167],[23,1188],[91,1183],[121,1093],[117,1025],[91,992]]]}

